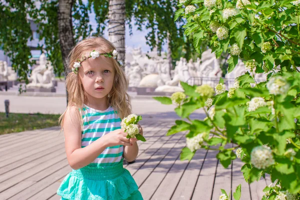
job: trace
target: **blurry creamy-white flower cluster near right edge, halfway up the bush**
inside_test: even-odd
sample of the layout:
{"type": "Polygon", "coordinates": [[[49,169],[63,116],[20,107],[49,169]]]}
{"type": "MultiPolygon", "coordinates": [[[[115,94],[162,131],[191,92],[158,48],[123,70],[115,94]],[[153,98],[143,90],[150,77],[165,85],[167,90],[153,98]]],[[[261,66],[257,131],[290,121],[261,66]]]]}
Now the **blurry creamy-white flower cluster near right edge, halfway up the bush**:
{"type": "Polygon", "coordinates": [[[271,94],[285,94],[289,89],[289,84],[281,76],[274,76],[266,83],[266,87],[271,94]]]}

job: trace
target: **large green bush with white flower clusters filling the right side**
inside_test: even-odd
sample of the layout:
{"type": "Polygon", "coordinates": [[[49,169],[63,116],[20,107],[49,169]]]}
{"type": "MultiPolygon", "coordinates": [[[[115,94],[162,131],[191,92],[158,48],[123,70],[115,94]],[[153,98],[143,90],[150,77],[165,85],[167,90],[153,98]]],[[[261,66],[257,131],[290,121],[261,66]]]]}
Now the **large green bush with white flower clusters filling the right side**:
{"type": "MultiPolygon", "coordinates": [[[[215,92],[180,83],[185,96],[180,95],[175,112],[182,120],[167,132],[188,130],[180,158],[191,159],[200,146],[219,151],[216,158],[228,167],[239,148],[247,182],[267,173],[278,185],[266,187],[263,199],[300,199],[300,1],[181,0],[178,6],[176,17],[186,18],[185,34],[199,53],[208,40],[216,57],[230,53],[228,72],[238,59],[249,70],[227,90],[222,79],[215,92]],[[267,80],[257,83],[254,72],[266,73],[267,80]],[[196,109],[207,117],[191,120],[196,109]],[[225,148],[226,143],[234,147],[225,148]]],[[[154,98],[172,103],[168,97],[154,98]]],[[[220,199],[226,199],[223,194],[220,199]]]]}

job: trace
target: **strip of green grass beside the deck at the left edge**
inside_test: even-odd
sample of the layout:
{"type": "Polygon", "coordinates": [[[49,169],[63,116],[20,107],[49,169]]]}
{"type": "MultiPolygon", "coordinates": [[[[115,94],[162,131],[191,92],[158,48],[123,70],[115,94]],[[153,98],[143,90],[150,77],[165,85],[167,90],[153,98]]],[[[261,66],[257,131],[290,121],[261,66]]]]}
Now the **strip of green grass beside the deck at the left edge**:
{"type": "Polygon", "coordinates": [[[60,114],[9,113],[6,118],[6,114],[0,112],[0,134],[57,126],[59,116],[60,114]]]}

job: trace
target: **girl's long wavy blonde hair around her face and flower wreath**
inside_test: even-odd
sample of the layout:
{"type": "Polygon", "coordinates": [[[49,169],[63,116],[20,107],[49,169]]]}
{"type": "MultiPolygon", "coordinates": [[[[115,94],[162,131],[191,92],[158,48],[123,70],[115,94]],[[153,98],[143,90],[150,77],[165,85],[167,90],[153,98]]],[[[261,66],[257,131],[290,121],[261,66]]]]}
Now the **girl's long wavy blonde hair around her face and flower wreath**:
{"type": "MultiPolygon", "coordinates": [[[[71,70],[73,63],[76,62],[77,59],[81,59],[84,52],[97,50],[102,53],[110,52],[114,49],[114,45],[103,37],[91,37],[88,39],[84,39],[78,42],[70,51],[69,63],[67,67],[69,70],[71,70]]],[[[126,92],[128,89],[128,81],[124,70],[119,66],[118,62],[113,58],[111,59],[113,60],[115,73],[113,80],[114,83],[112,84],[112,88],[107,96],[107,103],[117,111],[117,114],[122,119],[131,113],[130,97],[126,92]]],[[[82,107],[84,100],[86,100],[86,96],[84,94],[84,89],[79,82],[80,80],[78,74],[79,73],[75,74],[74,72],[70,72],[66,76],[65,82],[66,90],[68,92],[68,105],[66,110],[71,106],[75,106],[77,108],[78,119],[81,122],[82,117],[79,109],[82,107]]],[[[61,129],[63,128],[63,120],[66,110],[58,119],[61,129]]]]}

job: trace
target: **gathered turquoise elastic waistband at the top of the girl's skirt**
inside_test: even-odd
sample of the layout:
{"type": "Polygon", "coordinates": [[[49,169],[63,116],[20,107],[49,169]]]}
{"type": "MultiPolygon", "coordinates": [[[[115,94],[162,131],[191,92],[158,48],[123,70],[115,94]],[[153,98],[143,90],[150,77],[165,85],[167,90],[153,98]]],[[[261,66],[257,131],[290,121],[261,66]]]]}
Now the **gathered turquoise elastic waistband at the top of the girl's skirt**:
{"type": "Polygon", "coordinates": [[[108,180],[120,176],[124,172],[123,160],[113,166],[84,166],[72,170],[71,175],[82,179],[108,180]]]}

